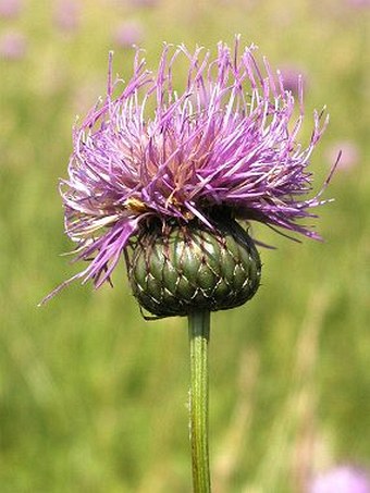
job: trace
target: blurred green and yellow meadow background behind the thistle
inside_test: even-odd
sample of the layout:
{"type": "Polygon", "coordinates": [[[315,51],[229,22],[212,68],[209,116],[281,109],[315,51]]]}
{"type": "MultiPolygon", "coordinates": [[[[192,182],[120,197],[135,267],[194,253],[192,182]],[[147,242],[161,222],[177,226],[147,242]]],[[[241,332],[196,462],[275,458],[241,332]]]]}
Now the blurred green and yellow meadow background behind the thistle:
{"type": "Polygon", "coordinates": [[[355,0],[0,1],[0,491],[188,492],[187,326],[146,322],[122,264],[76,284],[59,254],[58,178],[71,128],[106,90],[108,51],[127,78],[132,42],[255,42],[304,74],[307,118],[331,123],[312,158],[324,243],[256,227],[254,300],[212,316],[210,447],[215,493],[304,492],[336,464],[370,465],[370,9],[355,0]]]}

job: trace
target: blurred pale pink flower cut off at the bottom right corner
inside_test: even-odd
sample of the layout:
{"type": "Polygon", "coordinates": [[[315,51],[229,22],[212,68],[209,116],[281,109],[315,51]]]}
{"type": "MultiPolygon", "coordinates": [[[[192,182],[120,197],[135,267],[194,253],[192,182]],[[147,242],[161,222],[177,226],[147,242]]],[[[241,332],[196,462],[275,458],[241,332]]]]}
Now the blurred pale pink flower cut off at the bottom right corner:
{"type": "Polygon", "coordinates": [[[360,469],[341,466],[319,474],[309,493],[370,493],[370,480],[360,469]]]}

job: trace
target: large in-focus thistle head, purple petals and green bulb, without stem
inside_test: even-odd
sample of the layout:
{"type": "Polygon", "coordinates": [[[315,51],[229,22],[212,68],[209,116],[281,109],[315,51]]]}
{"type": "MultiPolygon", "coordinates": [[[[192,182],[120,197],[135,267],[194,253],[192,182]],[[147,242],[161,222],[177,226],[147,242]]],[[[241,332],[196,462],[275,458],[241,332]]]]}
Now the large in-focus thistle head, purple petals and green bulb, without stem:
{"type": "Polygon", "coordinates": [[[238,37],[232,49],[220,42],[214,59],[164,45],[150,72],[137,49],[126,84],[113,82],[110,56],[107,97],[74,128],[61,181],[65,231],[89,264],[50,296],[75,279],[100,287],[124,257],[135,296],[155,315],[230,308],[260,279],[254,242],[236,220],[319,238],[301,220],[316,217],[330,180],[309,197],[307,168],[328,116],[314,112],[310,140],[299,144],[301,82],[296,101],[256,50],[242,50],[238,37]]]}

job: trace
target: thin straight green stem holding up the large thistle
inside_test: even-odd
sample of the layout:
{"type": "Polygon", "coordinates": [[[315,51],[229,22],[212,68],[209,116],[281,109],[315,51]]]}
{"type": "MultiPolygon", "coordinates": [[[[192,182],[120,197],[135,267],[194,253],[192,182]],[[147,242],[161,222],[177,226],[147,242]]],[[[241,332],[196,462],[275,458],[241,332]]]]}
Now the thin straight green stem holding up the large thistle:
{"type": "Polygon", "coordinates": [[[211,491],[208,456],[208,343],[210,312],[188,315],[190,344],[190,445],[194,493],[211,491]]]}

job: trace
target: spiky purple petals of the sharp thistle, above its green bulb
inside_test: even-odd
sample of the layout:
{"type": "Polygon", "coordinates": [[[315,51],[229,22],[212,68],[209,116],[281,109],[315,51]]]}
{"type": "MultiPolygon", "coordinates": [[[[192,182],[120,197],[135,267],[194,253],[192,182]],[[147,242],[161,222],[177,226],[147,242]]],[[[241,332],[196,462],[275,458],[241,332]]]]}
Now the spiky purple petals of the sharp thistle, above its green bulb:
{"type": "MultiPolygon", "coordinates": [[[[307,170],[328,116],[314,112],[307,147],[297,141],[304,120],[298,100],[285,90],[256,47],[209,51],[165,45],[156,72],[136,51],[127,83],[112,81],[107,97],[74,130],[69,178],[61,182],[65,231],[88,267],[72,278],[99,287],[132,237],[148,221],[188,222],[214,227],[227,211],[311,238],[300,220],[316,215],[307,170]],[[187,63],[178,87],[176,64],[187,63]],[[119,96],[114,94],[119,93],[119,96]]],[[[66,283],[69,283],[67,281],[66,283]]],[[[64,283],[65,285],[65,283],[64,283]]],[[[58,289],[59,291],[59,289],[58,289]]]]}

